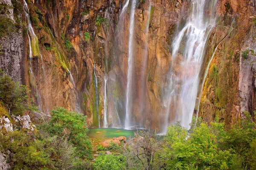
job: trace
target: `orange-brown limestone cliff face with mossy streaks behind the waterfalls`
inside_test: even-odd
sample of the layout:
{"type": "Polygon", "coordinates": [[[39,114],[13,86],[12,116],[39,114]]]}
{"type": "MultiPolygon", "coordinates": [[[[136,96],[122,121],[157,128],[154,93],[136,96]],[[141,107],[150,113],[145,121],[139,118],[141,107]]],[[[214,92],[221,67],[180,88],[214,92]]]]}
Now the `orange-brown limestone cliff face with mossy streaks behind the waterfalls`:
{"type": "MultiPolygon", "coordinates": [[[[0,68],[29,85],[36,96],[34,102],[45,117],[54,106],[63,106],[86,114],[89,126],[98,126],[99,120],[103,125],[105,113],[108,113],[108,126],[124,125],[130,11],[122,13],[122,9],[127,2],[4,0],[0,15],[11,20],[8,19],[13,29],[0,36],[3,52],[0,68]],[[25,3],[29,11],[24,9],[25,3]],[[28,20],[36,35],[34,40],[28,20]],[[99,94],[96,94],[95,75],[99,94]],[[99,108],[96,95],[99,95],[99,108]]],[[[255,6],[254,1],[244,0],[217,3],[217,21],[205,50],[201,84],[217,49],[201,98],[199,83],[197,99],[197,104],[201,100],[198,115],[206,121],[218,116],[229,124],[244,111],[254,114],[255,6]]],[[[131,8],[131,2],[127,8],[131,8]]],[[[136,125],[163,128],[165,75],[172,61],[173,38],[184,25],[190,8],[189,0],[137,1],[131,88],[131,120],[136,125]]]]}

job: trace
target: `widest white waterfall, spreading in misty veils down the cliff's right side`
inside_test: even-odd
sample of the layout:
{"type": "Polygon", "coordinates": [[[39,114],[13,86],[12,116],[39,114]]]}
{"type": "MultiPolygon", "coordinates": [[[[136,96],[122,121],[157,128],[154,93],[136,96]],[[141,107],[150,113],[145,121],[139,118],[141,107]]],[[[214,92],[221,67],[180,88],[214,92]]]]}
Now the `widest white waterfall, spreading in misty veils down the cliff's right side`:
{"type": "Polygon", "coordinates": [[[204,61],[209,33],[215,26],[214,8],[217,0],[192,0],[192,12],[172,45],[172,63],[163,106],[166,112],[164,131],[172,122],[181,121],[189,128],[198,95],[200,71],[204,61]],[[211,14],[204,11],[209,8],[211,14]]]}

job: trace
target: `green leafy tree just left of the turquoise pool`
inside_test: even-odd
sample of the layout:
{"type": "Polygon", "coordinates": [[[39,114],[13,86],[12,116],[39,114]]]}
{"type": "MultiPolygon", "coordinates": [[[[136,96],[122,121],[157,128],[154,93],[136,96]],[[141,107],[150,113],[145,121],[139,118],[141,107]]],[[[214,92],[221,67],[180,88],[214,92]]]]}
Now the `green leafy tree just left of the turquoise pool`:
{"type": "Polygon", "coordinates": [[[41,130],[71,142],[80,158],[91,157],[92,146],[87,136],[86,116],[64,108],[54,108],[51,117],[49,123],[41,125],[41,130]]]}

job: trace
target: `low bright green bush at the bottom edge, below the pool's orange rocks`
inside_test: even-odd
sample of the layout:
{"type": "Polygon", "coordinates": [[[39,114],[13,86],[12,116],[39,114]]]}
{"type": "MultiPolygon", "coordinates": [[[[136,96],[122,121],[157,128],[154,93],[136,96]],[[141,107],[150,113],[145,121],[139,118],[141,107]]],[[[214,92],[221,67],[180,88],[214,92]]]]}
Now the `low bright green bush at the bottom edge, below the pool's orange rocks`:
{"type": "Polygon", "coordinates": [[[126,158],[122,154],[103,154],[96,158],[93,167],[95,170],[125,170],[126,158]]]}

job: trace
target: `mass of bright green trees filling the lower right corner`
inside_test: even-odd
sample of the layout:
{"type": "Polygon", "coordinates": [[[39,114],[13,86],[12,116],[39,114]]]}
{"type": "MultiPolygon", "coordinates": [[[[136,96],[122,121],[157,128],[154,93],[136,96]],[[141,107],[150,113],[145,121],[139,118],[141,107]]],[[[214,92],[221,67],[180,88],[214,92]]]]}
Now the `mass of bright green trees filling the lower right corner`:
{"type": "Polygon", "coordinates": [[[248,119],[239,120],[230,130],[224,123],[201,123],[186,130],[180,123],[168,127],[164,138],[162,157],[169,170],[242,170],[255,169],[254,154],[256,139],[255,123],[248,119]]]}

